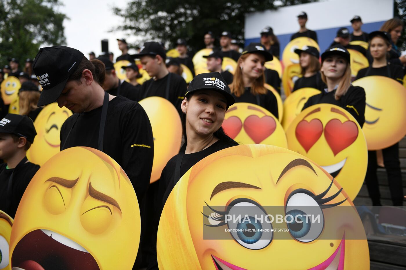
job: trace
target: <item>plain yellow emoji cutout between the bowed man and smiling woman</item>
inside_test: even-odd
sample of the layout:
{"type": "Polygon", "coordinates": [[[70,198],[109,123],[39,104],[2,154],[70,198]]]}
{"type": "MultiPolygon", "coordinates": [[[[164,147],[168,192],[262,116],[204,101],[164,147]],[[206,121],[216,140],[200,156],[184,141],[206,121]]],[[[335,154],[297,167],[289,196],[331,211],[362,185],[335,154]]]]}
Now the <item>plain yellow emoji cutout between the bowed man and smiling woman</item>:
{"type": "Polygon", "coordinates": [[[153,165],[151,183],[161,177],[169,159],[180,149],[182,140],[182,123],[176,108],[166,99],[151,96],[140,101],[151,121],[153,134],[153,165]]]}

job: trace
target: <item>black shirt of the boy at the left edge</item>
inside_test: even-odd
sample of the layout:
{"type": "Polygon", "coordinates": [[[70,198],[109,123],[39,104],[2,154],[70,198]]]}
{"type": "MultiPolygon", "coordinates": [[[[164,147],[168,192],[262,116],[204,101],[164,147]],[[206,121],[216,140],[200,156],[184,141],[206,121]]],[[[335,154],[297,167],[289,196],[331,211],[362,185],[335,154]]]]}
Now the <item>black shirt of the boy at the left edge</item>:
{"type": "Polygon", "coordinates": [[[32,177],[39,170],[39,165],[27,162],[19,165],[17,169],[6,169],[6,165],[6,163],[0,165],[0,209],[14,219],[21,197],[32,177]],[[11,203],[9,208],[7,208],[7,187],[13,171],[15,172],[11,186],[11,203]]]}

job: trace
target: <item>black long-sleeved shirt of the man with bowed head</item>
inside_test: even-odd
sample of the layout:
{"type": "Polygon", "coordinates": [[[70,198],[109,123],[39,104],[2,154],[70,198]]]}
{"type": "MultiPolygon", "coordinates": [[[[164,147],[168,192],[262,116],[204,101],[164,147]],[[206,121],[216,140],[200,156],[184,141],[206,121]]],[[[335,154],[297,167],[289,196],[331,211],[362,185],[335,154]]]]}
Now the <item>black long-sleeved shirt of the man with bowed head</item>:
{"type": "MultiPolygon", "coordinates": [[[[70,116],[60,130],[60,150],[74,146],[97,149],[101,115],[102,106],[70,116]]],[[[149,186],[153,162],[151,123],[140,104],[123,96],[108,102],[103,148],[124,169],[140,202],[149,186]]]]}

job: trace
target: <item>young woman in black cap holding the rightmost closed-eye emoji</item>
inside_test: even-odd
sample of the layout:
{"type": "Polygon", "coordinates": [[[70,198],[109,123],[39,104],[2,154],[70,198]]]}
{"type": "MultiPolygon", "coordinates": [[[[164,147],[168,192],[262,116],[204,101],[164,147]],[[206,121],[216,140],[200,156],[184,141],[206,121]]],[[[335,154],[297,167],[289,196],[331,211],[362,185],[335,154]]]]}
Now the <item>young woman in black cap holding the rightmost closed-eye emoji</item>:
{"type": "MultiPolygon", "coordinates": [[[[367,76],[384,76],[403,83],[402,68],[388,63],[387,52],[391,50],[391,37],[387,32],[375,31],[369,34],[369,50],[374,58],[371,66],[358,71],[356,79],[367,76]]],[[[384,91],[384,89],[382,89],[384,91]]],[[[393,205],[403,205],[402,172],[399,161],[399,143],[382,149],[383,162],[388,174],[389,190],[393,205]]],[[[376,151],[368,151],[368,167],[365,183],[373,205],[380,204],[378,177],[376,176],[376,151]]]]}

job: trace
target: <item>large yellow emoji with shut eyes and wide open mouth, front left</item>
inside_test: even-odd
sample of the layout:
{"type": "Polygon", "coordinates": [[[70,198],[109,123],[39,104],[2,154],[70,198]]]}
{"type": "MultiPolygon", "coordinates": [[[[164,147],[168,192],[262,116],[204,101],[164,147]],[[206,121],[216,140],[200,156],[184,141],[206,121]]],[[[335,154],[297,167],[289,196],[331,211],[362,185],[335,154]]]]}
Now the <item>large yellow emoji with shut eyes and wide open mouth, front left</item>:
{"type": "Polygon", "coordinates": [[[65,149],[28,184],[11,231],[11,267],[131,269],[140,241],[134,188],[110,156],[65,149]]]}

